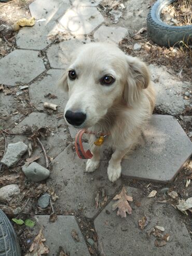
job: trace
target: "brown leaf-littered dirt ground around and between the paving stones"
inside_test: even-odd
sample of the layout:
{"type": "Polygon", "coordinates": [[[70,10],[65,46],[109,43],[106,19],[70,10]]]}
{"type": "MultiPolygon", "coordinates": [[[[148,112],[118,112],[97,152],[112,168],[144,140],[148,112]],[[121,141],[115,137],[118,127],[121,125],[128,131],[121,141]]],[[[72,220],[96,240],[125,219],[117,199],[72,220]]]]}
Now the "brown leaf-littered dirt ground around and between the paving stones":
{"type": "MultiPolygon", "coordinates": [[[[7,54],[9,54],[11,51],[15,50],[16,48],[16,42],[15,42],[15,35],[17,32],[13,32],[11,30],[11,26],[15,21],[17,21],[19,18],[24,17],[30,17],[30,11],[29,11],[29,4],[33,2],[32,0],[13,0],[10,3],[0,3],[0,28],[1,25],[5,25],[6,28],[4,30],[0,30],[0,58],[3,58],[7,54]]],[[[125,1],[121,1],[122,3],[125,1]]],[[[153,4],[154,1],[150,3],[150,5],[153,4]]],[[[150,8],[149,5],[149,8],[150,8]]],[[[99,6],[102,10],[102,5],[99,6]]],[[[131,7],[130,7],[131,8],[131,7]]],[[[141,4],[142,8],[142,4],[141,4]]],[[[175,5],[175,8],[177,10],[176,15],[181,15],[181,12],[178,11],[179,5],[175,5]]],[[[145,10],[146,13],[148,13],[148,10],[145,10]]],[[[105,15],[107,15],[107,12],[105,11],[105,15]]],[[[129,15],[127,13],[126,15],[129,15]]],[[[164,14],[163,14],[164,15],[164,14]]],[[[175,16],[174,16],[175,17],[175,16]]],[[[144,23],[142,25],[145,25],[145,18],[143,19],[144,23]]],[[[182,17],[183,20],[183,17],[182,17]]],[[[120,20],[120,23],[123,22],[123,20],[120,20]]],[[[190,21],[191,22],[191,21],[190,21]]],[[[122,51],[125,53],[128,53],[132,56],[137,56],[142,58],[146,63],[148,64],[159,64],[159,65],[165,65],[166,67],[170,68],[174,74],[179,76],[181,79],[186,81],[192,81],[192,48],[189,46],[181,46],[180,48],[166,48],[166,47],[160,47],[156,44],[154,44],[147,35],[146,26],[138,26],[138,23],[131,24],[130,26],[129,35],[120,42],[119,47],[122,51]],[[139,30],[141,31],[139,32],[139,30]],[[141,51],[139,52],[133,52],[133,46],[135,43],[142,44],[141,51]]],[[[21,121],[25,116],[29,115],[33,112],[34,106],[30,103],[29,99],[29,93],[28,90],[24,90],[23,93],[19,96],[16,95],[17,87],[14,88],[5,88],[1,87],[0,84],[0,93],[3,91],[6,93],[6,95],[14,95],[15,101],[12,103],[12,108],[17,109],[16,112],[12,112],[11,109],[7,109],[8,116],[3,117],[0,115],[0,158],[3,157],[4,150],[6,148],[6,137],[7,136],[13,136],[11,134],[11,129],[15,127],[15,121],[18,120],[21,121]],[[24,106],[24,107],[23,107],[24,106]],[[9,134],[10,133],[10,134],[9,134]]],[[[47,113],[47,111],[45,111],[47,113]]],[[[157,113],[155,111],[155,113],[157,113]]],[[[50,113],[52,114],[52,113],[50,113]]],[[[58,117],[62,116],[62,113],[56,112],[55,113],[58,117]]],[[[163,114],[163,113],[160,113],[163,114]]],[[[192,116],[192,108],[187,107],[182,115],[184,116],[192,116]]],[[[181,116],[176,116],[177,120],[183,127],[185,131],[191,130],[191,122],[185,121],[181,118],[181,116]]],[[[24,135],[26,136],[26,131],[24,132],[24,135]]],[[[190,138],[192,140],[192,138],[190,138]]],[[[188,186],[186,187],[186,182],[192,175],[192,164],[189,163],[191,160],[189,160],[185,167],[181,170],[181,172],[176,176],[174,182],[172,184],[158,184],[155,182],[148,182],[148,181],[141,181],[141,180],[124,180],[126,186],[131,186],[135,188],[141,189],[143,196],[147,196],[148,193],[155,189],[158,192],[162,188],[169,188],[170,191],[175,190],[179,194],[179,196],[183,199],[187,199],[192,196],[192,187],[188,186]]],[[[24,163],[24,160],[21,160],[16,168],[15,168],[15,174],[17,174],[17,178],[11,178],[12,180],[15,179],[16,183],[19,184],[20,189],[22,191],[22,197],[18,199],[18,202],[10,202],[11,209],[17,209],[18,207],[22,209],[21,213],[17,216],[17,218],[30,218],[33,217],[34,214],[51,214],[51,207],[46,208],[46,210],[37,208],[36,202],[37,198],[42,194],[42,192],[49,191],[52,193],[52,198],[54,198],[54,191],[50,191],[45,182],[42,182],[41,184],[32,184],[31,182],[26,182],[24,174],[22,172],[19,172],[20,166],[24,163]]],[[[3,177],[8,174],[13,174],[9,172],[8,168],[1,166],[0,171],[0,185],[7,185],[10,184],[10,180],[4,180],[3,177]]],[[[116,191],[116,193],[119,191],[116,191]]],[[[168,196],[166,193],[160,193],[162,194],[161,197],[158,197],[159,201],[167,200],[168,196]]],[[[114,194],[115,196],[115,194],[114,194]]],[[[111,199],[111,198],[110,198],[111,199]]],[[[110,200],[108,199],[108,201],[110,200]]],[[[108,202],[107,201],[107,202],[108,202]]],[[[107,203],[106,202],[106,203],[107,203]]],[[[139,203],[139,199],[138,199],[139,203]]],[[[169,204],[171,204],[173,207],[176,207],[177,200],[170,199],[168,201],[169,204]]],[[[8,214],[8,216],[11,218],[13,217],[11,210],[9,209],[10,205],[1,205],[1,208],[8,214]]],[[[104,208],[104,205],[101,206],[101,210],[104,208]]],[[[61,214],[60,209],[54,209],[56,214],[61,214]]],[[[181,219],[186,224],[186,227],[191,234],[191,217],[192,213],[189,211],[187,212],[188,215],[183,214],[180,212],[181,219]]],[[[71,214],[71,212],[68,212],[65,214],[71,214]]],[[[79,223],[79,227],[81,228],[81,231],[83,232],[85,238],[86,236],[92,237],[94,241],[97,241],[97,234],[94,232],[94,225],[93,222],[83,215],[81,210],[78,212],[73,212],[73,214],[77,217],[77,221],[79,223]]],[[[175,223],[176,225],[176,223],[175,223]]],[[[18,226],[17,224],[14,224],[18,237],[20,239],[20,245],[22,249],[22,255],[29,249],[30,243],[28,242],[29,239],[31,239],[31,231],[29,228],[18,226]]],[[[192,234],[191,234],[192,235],[192,234]]],[[[85,239],[87,240],[87,239],[85,239]]],[[[89,246],[89,245],[88,245],[89,246]]],[[[97,248],[90,248],[89,250],[92,255],[98,255],[97,254],[97,248]]]]}

